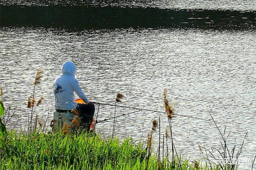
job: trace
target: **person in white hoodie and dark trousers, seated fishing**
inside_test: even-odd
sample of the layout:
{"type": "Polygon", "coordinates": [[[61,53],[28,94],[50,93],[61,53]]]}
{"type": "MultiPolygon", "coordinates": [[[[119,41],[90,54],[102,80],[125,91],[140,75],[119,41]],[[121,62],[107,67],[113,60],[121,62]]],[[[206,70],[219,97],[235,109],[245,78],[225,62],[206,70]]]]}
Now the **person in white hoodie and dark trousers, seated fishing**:
{"type": "Polygon", "coordinates": [[[94,115],[94,104],[89,102],[81,90],[76,79],[76,66],[72,62],[65,62],[61,69],[61,76],[54,81],[55,109],[58,112],[67,112],[77,109],[82,121],[89,123],[94,115]],[[86,104],[78,104],[75,92],[86,104]]]}

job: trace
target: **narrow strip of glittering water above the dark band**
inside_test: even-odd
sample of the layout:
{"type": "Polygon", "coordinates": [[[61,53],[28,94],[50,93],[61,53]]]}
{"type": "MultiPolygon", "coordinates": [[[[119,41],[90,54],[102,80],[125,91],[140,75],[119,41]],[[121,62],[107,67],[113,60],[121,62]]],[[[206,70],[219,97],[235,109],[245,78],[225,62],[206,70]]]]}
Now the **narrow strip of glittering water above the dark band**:
{"type": "Polygon", "coordinates": [[[256,10],[255,0],[144,0],[144,1],[127,1],[127,0],[88,0],[88,1],[72,1],[72,0],[2,0],[3,5],[83,5],[83,6],[119,6],[119,7],[153,7],[153,8],[167,8],[167,9],[222,9],[222,10],[256,10]]]}

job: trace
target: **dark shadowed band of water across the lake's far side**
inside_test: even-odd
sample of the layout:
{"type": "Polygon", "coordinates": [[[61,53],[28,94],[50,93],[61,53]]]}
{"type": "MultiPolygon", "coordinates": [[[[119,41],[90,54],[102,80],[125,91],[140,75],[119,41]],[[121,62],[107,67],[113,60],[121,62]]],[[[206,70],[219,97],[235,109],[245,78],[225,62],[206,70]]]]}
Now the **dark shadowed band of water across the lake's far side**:
{"type": "Polygon", "coordinates": [[[1,27],[45,27],[69,30],[116,28],[182,28],[255,30],[255,11],[175,10],[86,6],[3,6],[1,27]]]}

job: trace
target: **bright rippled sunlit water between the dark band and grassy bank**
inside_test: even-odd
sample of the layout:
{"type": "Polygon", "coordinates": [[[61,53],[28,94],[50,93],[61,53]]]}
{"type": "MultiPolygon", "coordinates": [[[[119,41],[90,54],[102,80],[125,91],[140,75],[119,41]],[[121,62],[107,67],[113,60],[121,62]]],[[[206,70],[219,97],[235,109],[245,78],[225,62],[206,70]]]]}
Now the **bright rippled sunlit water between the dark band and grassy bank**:
{"type": "MultiPolygon", "coordinates": [[[[77,66],[78,80],[88,98],[113,103],[118,92],[124,105],[164,111],[162,94],[167,88],[175,112],[210,119],[231,132],[238,143],[247,131],[242,156],[253,159],[256,152],[255,31],[181,29],[116,29],[67,32],[44,28],[2,28],[1,86],[5,104],[13,103],[26,112],[36,70],[44,69],[36,98],[44,96],[36,114],[50,119],[54,112],[52,83],[62,63],[77,66]],[[44,113],[44,114],[42,114],[44,113]]],[[[98,106],[96,106],[98,108],[98,106]]],[[[117,108],[118,114],[133,110],[117,108]]],[[[96,110],[97,112],[97,110],[96,110]]],[[[101,106],[98,120],[113,117],[114,107],[101,106]]],[[[138,112],[117,119],[116,136],[146,141],[153,118],[161,115],[161,133],[168,125],[165,114],[138,112]]],[[[12,127],[16,124],[9,123],[12,127]]],[[[18,123],[25,126],[27,119],[18,123]]],[[[112,122],[97,125],[108,134],[112,122]]],[[[176,116],[174,141],[179,152],[200,158],[198,144],[219,146],[215,125],[176,116]]],[[[154,136],[157,139],[157,134],[154,136]]]]}

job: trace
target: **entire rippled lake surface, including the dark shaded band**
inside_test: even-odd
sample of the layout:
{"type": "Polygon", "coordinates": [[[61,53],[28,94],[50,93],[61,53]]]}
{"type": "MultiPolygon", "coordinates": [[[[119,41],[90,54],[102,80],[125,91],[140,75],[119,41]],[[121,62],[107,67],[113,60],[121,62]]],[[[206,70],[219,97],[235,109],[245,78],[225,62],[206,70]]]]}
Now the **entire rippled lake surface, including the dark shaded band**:
{"type": "MultiPolygon", "coordinates": [[[[143,8],[131,4],[120,8],[122,1],[98,2],[104,6],[98,8],[97,3],[90,7],[81,1],[79,10],[71,6],[70,11],[56,1],[50,1],[49,7],[44,1],[39,4],[42,7],[27,6],[38,5],[37,1],[11,2],[1,3],[0,28],[0,86],[5,104],[17,106],[9,128],[16,124],[16,128],[26,128],[27,99],[33,93],[38,69],[44,70],[44,77],[36,87],[36,98],[44,96],[44,101],[35,114],[50,123],[54,112],[52,84],[63,62],[71,60],[90,100],[114,104],[121,92],[126,98],[119,105],[164,111],[162,95],[167,88],[177,114],[203,119],[210,119],[211,114],[222,131],[226,126],[226,134],[231,132],[230,148],[234,139],[239,147],[248,132],[241,156],[254,159],[255,1],[193,1],[190,5],[185,1],[131,2],[143,8]],[[54,4],[57,6],[52,7],[54,4]],[[193,10],[198,8],[204,10],[193,10]],[[92,14],[79,18],[81,10],[91,10],[92,14]],[[30,15],[31,11],[35,15],[30,15]],[[58,11],[67,13],[63,16],[58,11]],[[153,19],[147,15],[151,12],[153,19]],[[52,16],[49,20],[47,14],[52,16]],[[83,22],[79,24],[79,20],[83,22]]],[[[76,5],[73,1],[65,4],[76,5]]],[[[134,110],[116,111],[119,115],[134,110]]],[[[113,116],[114,107],[100,106],[99,121],[113,116]]],[[[159,116],[163,135],[168,125],[166,115],[142,111],[119,117],[116,136],[146,141],[152,120],[159,116]]],[[[113,121],[99,123],[97,132],[108,135],[112,125],[113,121]]],[[[157,133],[153,136],[156,145],[157,133]]],[[[191,160],[201,158],[198,144],[208,149],[221,146],[214,123],[204,120],[176,116],[173,136],[178,153],[191,160]]],[[[250,169],[251,165],[240,168],[250,169]]]]}

